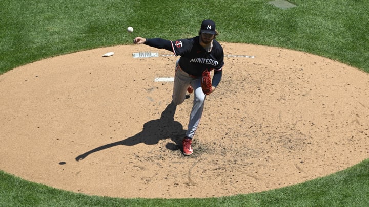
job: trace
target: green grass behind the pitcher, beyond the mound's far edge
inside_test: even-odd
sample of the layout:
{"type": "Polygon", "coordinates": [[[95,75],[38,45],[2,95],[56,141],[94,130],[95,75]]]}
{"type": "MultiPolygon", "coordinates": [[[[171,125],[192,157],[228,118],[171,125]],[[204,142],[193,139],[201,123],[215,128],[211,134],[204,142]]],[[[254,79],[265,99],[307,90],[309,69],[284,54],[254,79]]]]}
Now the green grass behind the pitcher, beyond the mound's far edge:
{"type": "Polygon", "coordinates": [[[219,40],[309,52],[369,72],[367,1],[74,1],[2,0],[0,73],[42,58],[117,44],[133,35],[176,39],[214,19],[219,40]],[[126,32],[132,26],[133,34],[126,32]]]}

